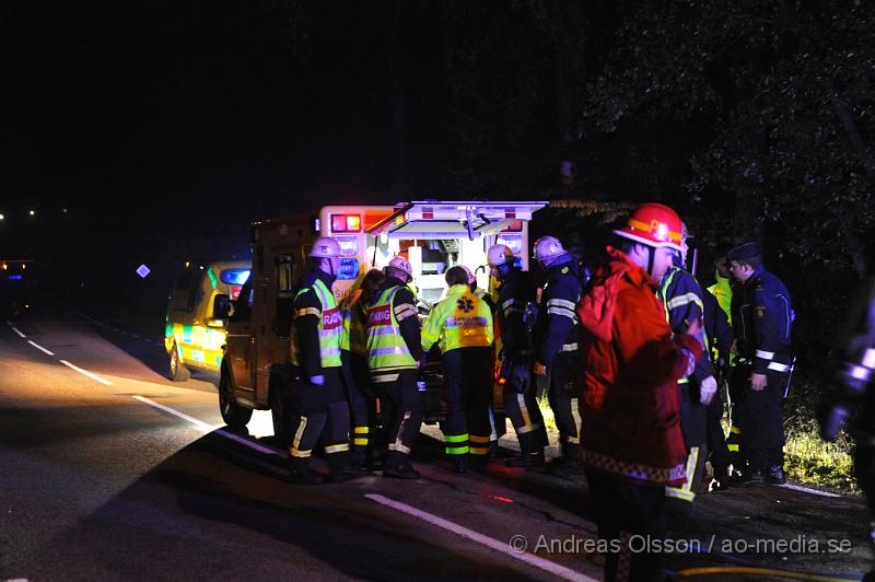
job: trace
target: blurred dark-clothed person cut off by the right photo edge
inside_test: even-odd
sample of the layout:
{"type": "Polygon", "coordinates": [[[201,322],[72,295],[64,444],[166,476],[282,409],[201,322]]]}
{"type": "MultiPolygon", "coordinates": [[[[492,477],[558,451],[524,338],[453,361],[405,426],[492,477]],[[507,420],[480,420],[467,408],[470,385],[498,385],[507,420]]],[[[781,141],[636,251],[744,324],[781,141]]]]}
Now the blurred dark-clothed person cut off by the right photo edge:
{"type": "MultiPolygon", "coordinates": [[[[875,279],[865,282],[852,303],[839,352],[833,389],[820,410],[820,434],[835,441],[845,421],[854,419],[854,476],[875,514],[875,279]]],[[[875,545],[875,519],[870,539],[875,545]]],[[[863,580],[875,582],[875,569],[863,580]]]]}

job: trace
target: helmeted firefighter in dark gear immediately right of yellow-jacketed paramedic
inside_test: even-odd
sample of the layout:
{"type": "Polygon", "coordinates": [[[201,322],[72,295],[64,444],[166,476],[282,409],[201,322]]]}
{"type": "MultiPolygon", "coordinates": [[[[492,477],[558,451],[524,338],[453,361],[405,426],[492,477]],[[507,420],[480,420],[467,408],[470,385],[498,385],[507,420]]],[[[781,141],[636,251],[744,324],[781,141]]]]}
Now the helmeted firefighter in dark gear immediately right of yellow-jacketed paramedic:
{"type": "Polygon", "coordinates": [[[511,418],[520,441],[520,456],[505,459],[509,467],[544,466],[547,432],[538,407],[532,375],[534,351],[524,315],[535,290],[527,272],[515,264],[506,245],[497,244],[487,253],[490,272],[499,282],[495,319],[502,348],[499,377],[504,379],[504,411],[511,418]]]}

